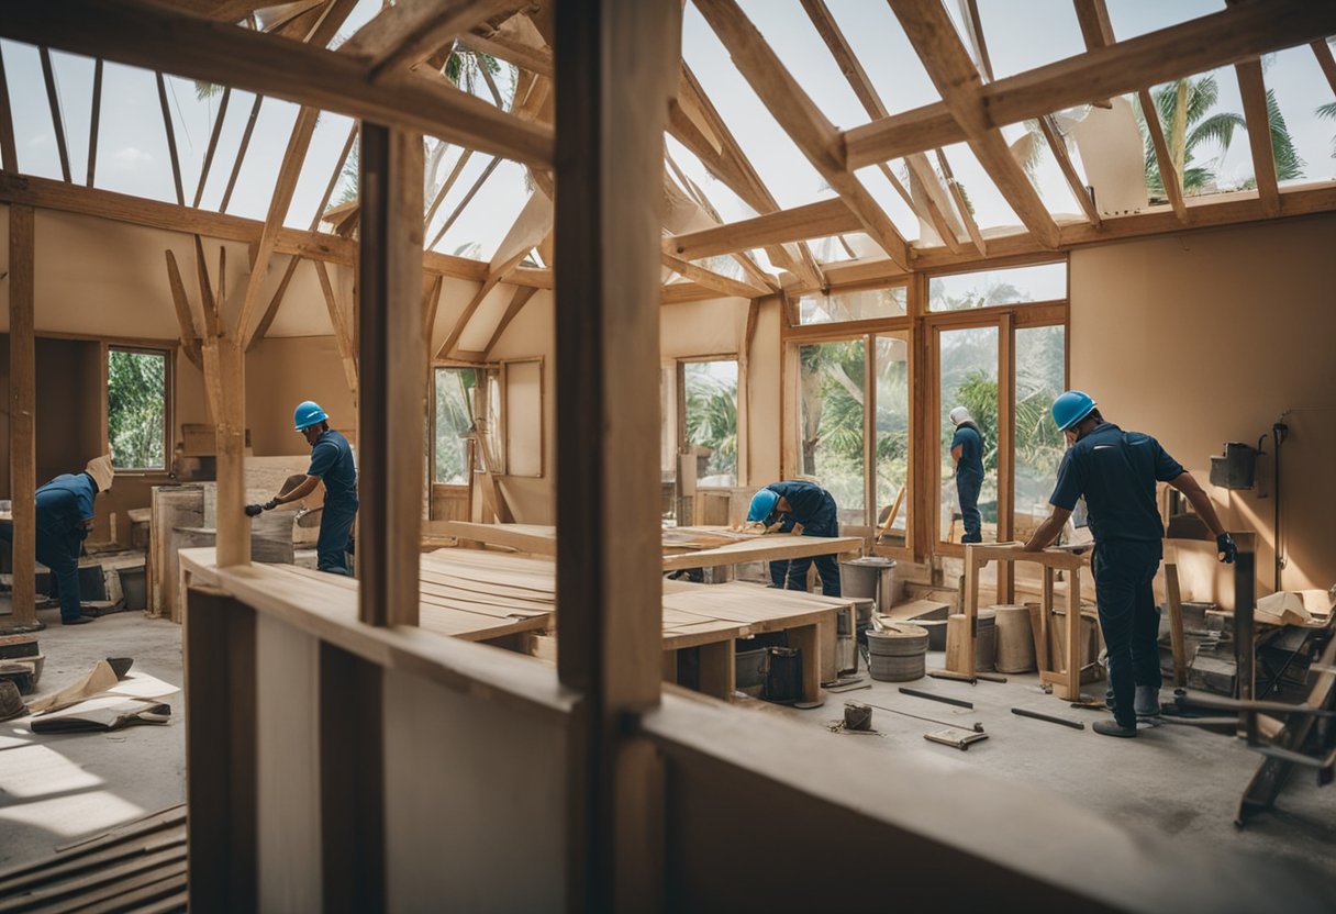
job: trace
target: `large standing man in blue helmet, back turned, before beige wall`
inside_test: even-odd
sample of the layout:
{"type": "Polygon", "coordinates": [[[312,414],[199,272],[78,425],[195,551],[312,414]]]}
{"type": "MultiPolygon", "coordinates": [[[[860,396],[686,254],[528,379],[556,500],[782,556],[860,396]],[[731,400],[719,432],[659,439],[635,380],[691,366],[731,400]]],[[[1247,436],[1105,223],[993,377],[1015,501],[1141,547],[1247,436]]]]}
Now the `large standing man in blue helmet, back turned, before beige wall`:
{"type": "Polygon", "coordinates": [[[1049,498],[1053,513],[1022,548],[1038,552],[1053,543],[1077,498],[1085,497],[1114,714],[1113,720],[1097,722],[1094,731],[1136,736],[1138,718],[1160,714],[1160,613],[1150,584],[1160,568],[1164,526],[1156,482],[1168,482],[1188,497],[1216,537],[1220,561],[1232,563],[1237,549],[1197,480],[1149,434],[1106,422],[1096,401],[1079,390],[1053,401],[1053,421],[1066,436],[1067,453],[1049,498]]]}

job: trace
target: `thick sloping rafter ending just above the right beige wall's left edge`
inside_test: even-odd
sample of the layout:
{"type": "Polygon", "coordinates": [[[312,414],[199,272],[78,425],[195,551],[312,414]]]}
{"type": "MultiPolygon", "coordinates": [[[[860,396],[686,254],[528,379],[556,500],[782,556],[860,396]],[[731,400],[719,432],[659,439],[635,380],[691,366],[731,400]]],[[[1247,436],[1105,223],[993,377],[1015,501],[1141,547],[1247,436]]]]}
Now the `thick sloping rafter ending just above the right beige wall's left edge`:
{"type": "Polygon", "coordinates": [[[983,80],[961,43],[951,17],[941,4],[890,0],[904,35],[918,52],[929,78],[942,94],[966,142],[1026,228],[1049,247],[1058,245],[1058,227],[1039,199],[1025,168],[1011,155],[1002,131],[993,127],[979,106],[983,80]]]}

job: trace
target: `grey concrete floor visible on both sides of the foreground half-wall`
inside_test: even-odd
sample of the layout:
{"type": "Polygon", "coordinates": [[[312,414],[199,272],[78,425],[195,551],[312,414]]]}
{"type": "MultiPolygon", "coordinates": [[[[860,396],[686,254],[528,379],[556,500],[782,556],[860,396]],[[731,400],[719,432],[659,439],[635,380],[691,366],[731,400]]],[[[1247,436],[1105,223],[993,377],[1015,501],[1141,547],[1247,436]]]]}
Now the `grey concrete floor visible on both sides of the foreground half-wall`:
{"type": "MultiPolygon", "coordinates": [[[[39,635],[47,655],[40,692],[87,673],[106,656],[131,656],[135,668],[172,684],[182,681],[180,628],[170,621],[118,613],[90,625],[61,627],[56,612],[39,635]]],[[[941,652],[929,665],[942,664],[941,652]]],[[[799,711],[747,702],[758,712],[826,728],[846,700],[892,707],[969,727],[982,722],[990,738],[967,752],[935,746],[923,734],[941,727],[874,710],[879,735],[830,734],[858,740],[887,758],[914,756],[938,768],[965,768],[1053,791],[1129,831],[1169,835],[1185,849],[1233,850],[1255,861],[1316,870],[1336,887],[1336,786],[1319,788],[1312,775],[1293,779],[1279,808],[1246,828],[1233,824],[1238,798],[1259,764],[1240,740],[1192,727],[1142,731],[1116,740],[1089,730],[1102,712],[1070,708],[1043,695],[1034,675],[1006,684],[967,686],[935,679],[910,683],[923,691],[974,702],[973,711],[900,695],[903,683],[864,679],[871,688],[827,694],[820,708],[799,711]],[[1086,722],[1085,731],[1018,718],[1013,707],[1086,722]]],[[[1102,692],[1102,686],[1088,687],[1102,692]]],[[[80,835],[180,803],[184,799],[184,703],[168,699],[172,722],[111,734],[33,735],[24,719],[0,723],[0,867],[36,859],[80,835]]]]}

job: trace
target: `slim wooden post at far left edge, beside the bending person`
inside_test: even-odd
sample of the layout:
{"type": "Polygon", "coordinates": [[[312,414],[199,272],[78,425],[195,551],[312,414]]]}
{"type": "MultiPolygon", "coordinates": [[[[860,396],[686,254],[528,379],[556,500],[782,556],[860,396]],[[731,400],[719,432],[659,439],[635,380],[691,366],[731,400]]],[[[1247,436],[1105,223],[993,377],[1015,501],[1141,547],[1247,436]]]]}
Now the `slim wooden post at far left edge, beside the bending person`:
{"type": "Polygon", "coordinates": [[[37,355],[33,339],[33,215],[9,207],[9,497],[13,500],[12,631],[37,624],[37,355]]]}

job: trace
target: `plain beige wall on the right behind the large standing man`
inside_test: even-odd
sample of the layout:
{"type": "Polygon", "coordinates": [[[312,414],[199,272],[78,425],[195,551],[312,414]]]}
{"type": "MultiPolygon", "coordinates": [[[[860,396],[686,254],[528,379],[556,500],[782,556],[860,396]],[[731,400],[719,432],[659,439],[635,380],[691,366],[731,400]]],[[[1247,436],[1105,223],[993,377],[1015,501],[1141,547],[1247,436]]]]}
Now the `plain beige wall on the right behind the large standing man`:
{"type": "MultiPolygon", "coordinates": [[[[1336,584],[1336,216],[1184,233],[1071,254],[1071,384],[1105,417],[1154,434],[1206,488],[1224,522],[1259,535],[1272,587],[1272,460],[1252,490],[1210,486],[1225,441],[1281,420],[1285,589],[1336,584]],[[1293,410],[1293,412],[1288,412],[1293,410]]],[[[1265,450],[1272,452],[1268,440],[1265,450]]],[[[1184,589],[1233,605],[1212,547],[1182,551],[1184,589]]]]}

